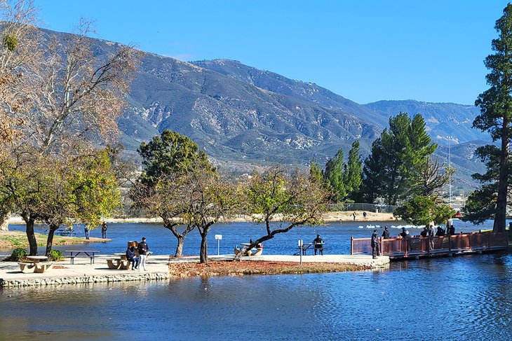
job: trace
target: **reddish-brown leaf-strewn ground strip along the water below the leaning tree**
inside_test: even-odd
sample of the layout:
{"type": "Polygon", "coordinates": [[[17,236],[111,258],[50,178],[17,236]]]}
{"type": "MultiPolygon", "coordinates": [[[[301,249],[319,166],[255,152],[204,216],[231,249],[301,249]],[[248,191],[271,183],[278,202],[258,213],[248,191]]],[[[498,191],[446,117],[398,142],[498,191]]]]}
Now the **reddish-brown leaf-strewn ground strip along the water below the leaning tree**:
{"type": "Polygon", "coordinates": [[[321,272],[344,272],[370,270],[369,265],[349,265],[342,263],[302,263],[267,262],[258,260],[210,260],[201,263],[170,263],[171,277],[209,277],[209,276],[242,276],[246,274],[310,274],[321,272]]]}

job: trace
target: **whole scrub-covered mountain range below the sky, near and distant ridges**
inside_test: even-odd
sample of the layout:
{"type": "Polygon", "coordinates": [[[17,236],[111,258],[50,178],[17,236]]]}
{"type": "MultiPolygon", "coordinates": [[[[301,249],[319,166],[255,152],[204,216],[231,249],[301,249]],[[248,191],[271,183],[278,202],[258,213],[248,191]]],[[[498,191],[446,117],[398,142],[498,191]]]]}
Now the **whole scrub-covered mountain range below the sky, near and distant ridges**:
{"type": "MultiPolygon", "coordinates": [[[[43,32],[58,39],[69,35],[43,32]]],[[[100,39],[90,43],[96,55],[120,46],[100,39]]],[[[146,53],[128,103],[119,119],[121,143],[128,152],[168,128],[194,139],[215,164],[244,172],[272,162],[304,167],[316,159],[324,164],[339,148],[347,155],[355,139],[364,158],[389,117],[399,111],[423,113],[434,139],[450,134],[462,146],[485,138],[469,128],[477,113],[470,106],[416,101],[361,105],[314,83],[233,60],[181,62],[146,53]]],[[[471,185],[468,174],[481,164],[467,159],[466,149],[460,149],[460,157],[458,151],[452,148],[452,162],[471,185]]]]}

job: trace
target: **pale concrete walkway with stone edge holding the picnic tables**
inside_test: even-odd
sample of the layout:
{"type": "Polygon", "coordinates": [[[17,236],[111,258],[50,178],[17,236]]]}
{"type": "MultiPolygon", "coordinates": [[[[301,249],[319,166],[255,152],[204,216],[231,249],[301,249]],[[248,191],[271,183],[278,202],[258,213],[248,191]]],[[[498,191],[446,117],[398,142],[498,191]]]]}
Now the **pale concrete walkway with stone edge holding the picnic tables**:
{"type": "MultiPolygon", "coordinates": [[[[75,258],[74,264],[69,260],[54,262],[53,269],[42,274],[25,274],[20,271],[17,262],[0,262],[0,286],[32,286],[51,284],[80,284],[109,281],[137,281],[169,278],[169,262],[198,262],[198,256],[170,258],[169,256],[151,255],[147,258],[147,271],[110,270],[107,258],[111,255],[95,257],[95,264],[90,265],[89,258],[75,258]]],[[[234,255],[208,256],[209,260],[231,260],[234,255]]],[[[266,260],[272,262],[299,262],[299,256],[265,255],[243,257],[242,260],[266,260]]],[[[371,256],[325,255],[302,256],[302,262],[346,263],[351,265],[368,265],[372,268],[387,267],[389,257],[372,259],[371,256]]]]}

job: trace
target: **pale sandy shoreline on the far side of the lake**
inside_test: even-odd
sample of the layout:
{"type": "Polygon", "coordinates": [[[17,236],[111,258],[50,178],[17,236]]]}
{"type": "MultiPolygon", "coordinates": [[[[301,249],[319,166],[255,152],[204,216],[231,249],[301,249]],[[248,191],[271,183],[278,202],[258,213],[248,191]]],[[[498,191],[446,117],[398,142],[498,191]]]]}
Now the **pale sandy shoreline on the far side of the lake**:
{"type": "MultiPolygon", "coordinates": [[[[330,211],[325,214],[324,221],[396,221],[391,213],[376,213],[366,211],[366,218],[363,218],[363,211],[355,211],[356,218],[353,218],[354,211],[330,211]]],[[[280,221],[279,217],[275,221],[280,221]]],[[[107,223],[162,223],[161,218],[105,218],[107,223]]],[[[251,223],[250,216],[236,216],[226,221],[227,223],[251,223]]],[[[25,221],[19,216],[13,216],[9,219],[11,225],[25,225],[25,221]]]]}

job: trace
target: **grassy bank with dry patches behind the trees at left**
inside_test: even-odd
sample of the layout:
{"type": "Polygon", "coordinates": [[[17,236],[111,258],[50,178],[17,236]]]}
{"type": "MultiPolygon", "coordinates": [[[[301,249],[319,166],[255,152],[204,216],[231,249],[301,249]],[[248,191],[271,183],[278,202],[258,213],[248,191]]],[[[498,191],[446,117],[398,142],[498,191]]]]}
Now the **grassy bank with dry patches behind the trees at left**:
{"type": "MultiPolygon", "coordinates": [[[[46,239],[48,235],[35,233],[37,246],[46,246],[46,239]]],[[[72,244],[87,244],[98,242],[109,242],[111,239],[90,238],[85,239],[81,237],[53,237],[53,245],[72,245],[72,244]]],[[[0,231],[0,249],[15,249],[17,247],[29,247],[29,242],[25,232],[21,231],[0,231]]]]}

